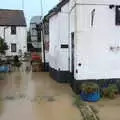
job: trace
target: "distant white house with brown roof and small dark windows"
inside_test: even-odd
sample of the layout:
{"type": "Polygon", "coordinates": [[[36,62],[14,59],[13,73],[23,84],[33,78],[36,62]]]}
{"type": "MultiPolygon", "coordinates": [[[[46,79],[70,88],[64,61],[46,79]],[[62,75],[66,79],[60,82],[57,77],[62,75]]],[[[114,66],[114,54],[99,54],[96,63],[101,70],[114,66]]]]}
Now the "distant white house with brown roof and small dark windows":
{"type": "Polygon", "coordinates": [[[27,52],[27,28],[22,10],[0,9],[0,37],[8,45],[7,56],[27,52]]]}

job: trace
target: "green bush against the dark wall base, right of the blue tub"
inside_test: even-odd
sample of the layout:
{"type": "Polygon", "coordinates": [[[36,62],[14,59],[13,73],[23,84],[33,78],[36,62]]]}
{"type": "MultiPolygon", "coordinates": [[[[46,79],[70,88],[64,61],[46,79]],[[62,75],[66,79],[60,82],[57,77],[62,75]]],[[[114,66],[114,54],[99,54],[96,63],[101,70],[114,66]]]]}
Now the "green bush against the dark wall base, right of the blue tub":
{"type": "Polygon", "coordinates": [[[117,88],[116,84],[110,84],[107,88],[103,89],[103,96],[114,99],[116,95],[118,94],[119,90],[117,88]]]}

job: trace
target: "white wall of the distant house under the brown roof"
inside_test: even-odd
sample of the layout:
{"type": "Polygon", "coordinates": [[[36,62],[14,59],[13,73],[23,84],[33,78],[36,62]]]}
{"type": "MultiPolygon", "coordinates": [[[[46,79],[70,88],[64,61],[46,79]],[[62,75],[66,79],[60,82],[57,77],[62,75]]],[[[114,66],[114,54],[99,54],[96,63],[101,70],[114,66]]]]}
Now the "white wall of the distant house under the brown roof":
{"type": "Polygon", "coordinates": [[[9,49],[6,51],[7,56],[19,55],[19,50],[22,50],[24,54],[27,52],[27,29],[26,27],[16,27],[16,35],[11,35],[11,27],[0,27],[0,36],[4,39],[4,28],[5,29],[5,42],[9,49]],[[11,44],[15,43],[17,51],[11,52],[11,44]]]}

